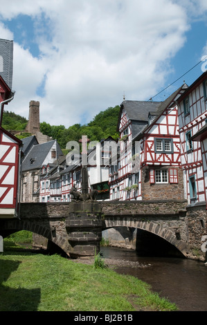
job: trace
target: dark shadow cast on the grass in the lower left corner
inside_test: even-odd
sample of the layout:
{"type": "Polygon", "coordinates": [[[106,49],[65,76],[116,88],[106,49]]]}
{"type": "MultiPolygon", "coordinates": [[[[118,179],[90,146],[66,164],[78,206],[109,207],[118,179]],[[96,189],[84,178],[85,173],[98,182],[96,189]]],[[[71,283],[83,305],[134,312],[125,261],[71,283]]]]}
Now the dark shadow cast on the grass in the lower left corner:
{"type": "Polygon", "coordinates": [[[39,288],[10,288],[6,284],[20,264],[20,261],[0,260],[0,311],[37,311],[41,297],[39,288]]]}

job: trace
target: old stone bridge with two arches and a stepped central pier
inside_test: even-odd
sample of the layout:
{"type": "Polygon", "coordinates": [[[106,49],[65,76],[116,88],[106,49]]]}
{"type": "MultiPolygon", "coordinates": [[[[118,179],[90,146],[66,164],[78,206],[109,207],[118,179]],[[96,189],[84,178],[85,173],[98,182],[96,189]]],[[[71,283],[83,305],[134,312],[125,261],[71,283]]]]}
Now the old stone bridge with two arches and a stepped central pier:
{"type": "MultiPolygon", "coordinates": [[[[183,257],[205,261],[206,206],[188,209],[186,201],[102,201],[21,203],[19,219],[0,219],[0,235],[28,230],[59,246],[69,257],[93,256],[102,230],[137,228],[170,243],[183,257]]],[[[154,244],[154,238],[149,237],[154,244]]]]}

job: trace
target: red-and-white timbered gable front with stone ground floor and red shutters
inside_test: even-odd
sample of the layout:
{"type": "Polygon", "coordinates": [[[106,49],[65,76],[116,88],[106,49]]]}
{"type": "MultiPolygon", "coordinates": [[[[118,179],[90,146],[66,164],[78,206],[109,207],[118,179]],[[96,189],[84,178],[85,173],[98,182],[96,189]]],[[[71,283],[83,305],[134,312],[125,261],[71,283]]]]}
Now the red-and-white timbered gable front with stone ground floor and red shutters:
{"type": "Polygon", "coordinates": [[[183,198],[183,177],[177,100],[188,86],[183,84],[156,111],[149,126],[135,139],[141,147],[141,198],[183,198]]]}

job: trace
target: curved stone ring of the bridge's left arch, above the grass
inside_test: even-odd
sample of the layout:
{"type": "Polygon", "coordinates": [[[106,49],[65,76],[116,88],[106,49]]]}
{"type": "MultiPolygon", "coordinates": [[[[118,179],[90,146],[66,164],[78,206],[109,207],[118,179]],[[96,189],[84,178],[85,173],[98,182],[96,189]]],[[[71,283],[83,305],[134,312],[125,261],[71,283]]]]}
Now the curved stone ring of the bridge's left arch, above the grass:
{"type": "Polygon", "coordinates": [[[6,234],[6,236],[14,232],[19,232],[20,230],[27,230],[45,237],[52,243],[55,243],[55,245],[61,248],[66,255],[70,257],[69,251],[71,250],[71,245],[69,241],[58,234],[53,236],[53,230],[46,228],[44,225],[39,225],[31,221],[21,221],[19,219],[4,221],[3,224],[1,224],[1,234],[6,234]]]}

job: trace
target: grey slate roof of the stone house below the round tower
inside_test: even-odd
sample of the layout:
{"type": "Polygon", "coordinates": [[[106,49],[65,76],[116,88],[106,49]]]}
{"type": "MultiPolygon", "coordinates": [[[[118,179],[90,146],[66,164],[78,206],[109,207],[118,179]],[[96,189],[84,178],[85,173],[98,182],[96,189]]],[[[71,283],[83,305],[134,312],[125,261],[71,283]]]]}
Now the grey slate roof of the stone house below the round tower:
{"type": "MultiPolygon", "coordinates": [[[[41,168],[55,141],[56,140],[52,140],[42,143],[41,145],[34,145],[22,162],[22,171],[41,168]]],[[[62,151],[57,144],[57,157],[60,156],[60,154],[62,154],[62,151]]]]}

